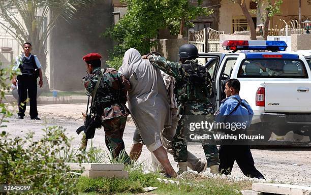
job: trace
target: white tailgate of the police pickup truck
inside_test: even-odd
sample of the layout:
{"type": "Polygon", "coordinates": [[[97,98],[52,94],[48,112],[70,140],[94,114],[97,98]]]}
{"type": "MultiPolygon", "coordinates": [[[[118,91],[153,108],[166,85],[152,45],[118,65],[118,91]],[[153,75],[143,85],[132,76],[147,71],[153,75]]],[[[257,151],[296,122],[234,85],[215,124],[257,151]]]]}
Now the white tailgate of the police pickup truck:
{"type": "Polygon", "coordinates": [[[265,112],[311,112],[310,81],[265,82],[265,112]]]}

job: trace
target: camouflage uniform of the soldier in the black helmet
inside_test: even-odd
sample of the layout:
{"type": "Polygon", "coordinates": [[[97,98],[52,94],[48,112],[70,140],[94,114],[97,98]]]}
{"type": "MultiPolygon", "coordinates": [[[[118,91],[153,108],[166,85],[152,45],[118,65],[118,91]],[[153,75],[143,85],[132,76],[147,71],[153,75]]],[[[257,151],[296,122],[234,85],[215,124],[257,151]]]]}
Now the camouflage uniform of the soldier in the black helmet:
{"type": "MultiPolygon", "coordinates": [[[[166,74],[176,79],[174,92],[177,95],[177,101],[179,104],[177,114],[180,114],[181,118],[178,121],[176,134],[173,138],[173,151],[174,160],[176,162],[185,162],[187,161],[188,155],[187,142],[183,132],[185,121],[193,115],[200,115],[202,116],[201,118],[210,118],[214,113],[214,109],[210,103],[210,99],[208,98],[208,96],[212,93],[211,77],[204,68],[204,80],[206,82],[204,84],[206,88],[205,90],[202,90],[202,88],[198,88],[196,85],[191,86],[189,81],[188,83],[185,81],[185,78],[187,78],[186,76],[189,75],[186,75],[188,73],[184,70],[184,67],[181,63],[170,62],[165,57],[157,55],[151,55],[149,61],[153,66],[158,67],[166,74]],[[203,91],[207,92],[208,94],[204,94],[203,91]],[[194,99],[194,96],[200,96],[200,100],[197,98],[194,99]]],[[[198,64],[198,61],[186,60],[184,64],[198,64]]],[[[197,66],[195,65],[195,67],[197,66]]],[[[197,69],[198,68],[195,70],[197,69]]],[[[219,165],[220,160],[217,147],[215,145],[208,145],[204,142],[202,142],[202,146],[207,160],[207,166],[210,167],[212,165],[219,165]]]]}

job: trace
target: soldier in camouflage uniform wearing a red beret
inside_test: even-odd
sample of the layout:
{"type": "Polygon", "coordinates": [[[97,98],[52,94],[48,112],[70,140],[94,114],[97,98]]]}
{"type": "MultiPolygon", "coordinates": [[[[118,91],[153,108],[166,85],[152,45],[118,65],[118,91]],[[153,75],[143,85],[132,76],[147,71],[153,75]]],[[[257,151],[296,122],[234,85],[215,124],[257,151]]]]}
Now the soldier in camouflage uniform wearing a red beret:
{"type": "MultiPolygon", "coordinates": [[[[83,56],[87,72],[90,74],[83,78],[83,84],[90,94],[93,93],[101,73],[101,57],[98,53],[89,53],[83,56]]],[[[127,90],[129,89],[130,82],[125,77],[114,69],[106,68],[96,97],[93,97],[96,98],[94,107],[102,113],[106,146],[114,158],[117,158],[122,150],[125,150],[122,137],[129,115],[125,105],[127,90]]],[[[126,152],[122,159],[124,163],[130,163],[130,157],[126,152]]]]}

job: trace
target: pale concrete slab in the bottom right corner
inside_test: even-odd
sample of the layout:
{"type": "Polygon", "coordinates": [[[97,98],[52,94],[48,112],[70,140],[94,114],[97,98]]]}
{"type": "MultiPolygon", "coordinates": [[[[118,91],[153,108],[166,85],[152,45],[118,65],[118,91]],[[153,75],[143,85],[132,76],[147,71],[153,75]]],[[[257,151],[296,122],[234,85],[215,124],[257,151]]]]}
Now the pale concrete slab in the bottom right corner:
{"type": "Polygon", "coordinates": [[[286,195],[311,195],[311,187],[279,183],[253,183],[254,191],[286,195]]]}

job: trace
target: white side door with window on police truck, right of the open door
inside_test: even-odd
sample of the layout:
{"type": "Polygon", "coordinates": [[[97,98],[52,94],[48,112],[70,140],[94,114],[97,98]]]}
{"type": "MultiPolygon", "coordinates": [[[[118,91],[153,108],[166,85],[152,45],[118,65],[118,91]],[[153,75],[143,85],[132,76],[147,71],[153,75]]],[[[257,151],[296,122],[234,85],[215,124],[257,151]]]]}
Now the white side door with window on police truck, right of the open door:
{"type": "Polygon", "coordinates": [[[215,83],[216,83],[216,109],[220,107],[220,102],[226,98],[225,84],[228,79],[231,78],[235,62],[238,55],[228,55],[222,60],[221,66],[217,73],[215,83]]]}

